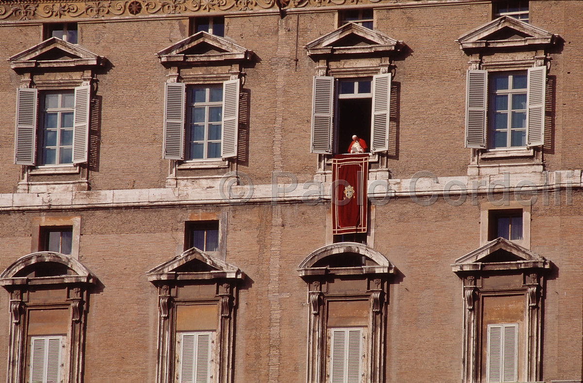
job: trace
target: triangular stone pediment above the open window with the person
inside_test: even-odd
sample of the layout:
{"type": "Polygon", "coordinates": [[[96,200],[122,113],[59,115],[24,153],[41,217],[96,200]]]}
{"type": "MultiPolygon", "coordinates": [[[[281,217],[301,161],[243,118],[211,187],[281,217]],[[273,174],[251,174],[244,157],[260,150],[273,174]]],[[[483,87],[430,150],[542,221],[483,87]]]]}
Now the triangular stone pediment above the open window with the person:
{"type": "Polygon", "coordinates": [[[316,40],[308,42],[308,56],[324,54],[365,54],[398,50],[402,41],[360,24],[347,23],[316,40]]]}

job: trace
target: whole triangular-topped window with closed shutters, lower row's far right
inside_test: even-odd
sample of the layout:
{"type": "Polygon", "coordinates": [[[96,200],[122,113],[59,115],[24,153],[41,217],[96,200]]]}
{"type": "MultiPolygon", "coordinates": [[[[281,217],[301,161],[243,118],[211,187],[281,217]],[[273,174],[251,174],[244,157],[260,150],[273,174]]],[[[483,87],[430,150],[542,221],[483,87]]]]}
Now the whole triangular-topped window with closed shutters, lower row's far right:
{"type": "Polygon", "coordinates": [[[498,237],[455,260],[463,281],[463,382],[540,381],[548,260],[498,237]]]}

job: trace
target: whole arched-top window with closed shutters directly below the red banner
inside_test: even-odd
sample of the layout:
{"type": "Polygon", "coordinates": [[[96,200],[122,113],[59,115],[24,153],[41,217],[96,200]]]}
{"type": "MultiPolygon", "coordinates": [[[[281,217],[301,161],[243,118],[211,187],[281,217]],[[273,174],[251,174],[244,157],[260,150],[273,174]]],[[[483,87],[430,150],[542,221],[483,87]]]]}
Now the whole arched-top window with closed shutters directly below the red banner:
{"type": "Polygon", "coordinates": [[[321,247],[300,264],[308,285],[309,383],[380,383],[394,266],[357,243],[321,247]]]}

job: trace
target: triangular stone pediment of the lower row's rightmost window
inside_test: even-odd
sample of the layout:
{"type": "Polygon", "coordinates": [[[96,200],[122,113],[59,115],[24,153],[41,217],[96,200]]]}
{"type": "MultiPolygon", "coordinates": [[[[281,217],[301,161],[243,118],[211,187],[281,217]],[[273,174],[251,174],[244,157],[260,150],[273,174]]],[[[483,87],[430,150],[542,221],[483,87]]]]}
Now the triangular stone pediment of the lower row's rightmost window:
{"type": "Polygon", "coordinates": [[[470,251],[452,265],[454,272],[549,267],[545,257],[501,237],[470,251]]]}

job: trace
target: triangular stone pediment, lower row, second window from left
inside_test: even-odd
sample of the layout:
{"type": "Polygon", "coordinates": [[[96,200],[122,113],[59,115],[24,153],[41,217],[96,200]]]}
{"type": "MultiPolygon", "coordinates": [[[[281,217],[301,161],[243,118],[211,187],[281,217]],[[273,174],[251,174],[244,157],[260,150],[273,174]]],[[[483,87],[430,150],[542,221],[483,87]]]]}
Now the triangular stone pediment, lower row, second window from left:
{"type": "Polygon", "coordinates": [[[202,250],[192,247],[146,273],[150,282],[171,279],[244,279],[245,274],[239,268],[219,258],[209,256],[202,250]]]}

